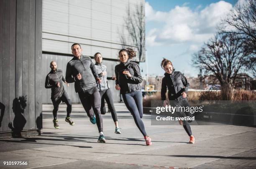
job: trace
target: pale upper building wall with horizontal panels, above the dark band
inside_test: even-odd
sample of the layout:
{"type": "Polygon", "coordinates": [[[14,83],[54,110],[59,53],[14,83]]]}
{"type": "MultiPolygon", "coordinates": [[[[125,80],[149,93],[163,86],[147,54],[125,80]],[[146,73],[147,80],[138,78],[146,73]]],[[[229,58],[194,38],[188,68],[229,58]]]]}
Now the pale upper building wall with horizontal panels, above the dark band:
{"type": "MultiPolygon", "coordinates": [[[[70,46],[78,42],[86,48],[84,55],[102,52],[116,59],[122,48],[118,30],[125,30],[126,9],[140,2],[145,1],[44,0],[43,51],[71,54],[70,46]]],[[[129,38],[127,31],[124,35],[129,38]]],[[[130,39],[127,45],[131,44],[130,39]]]]}

